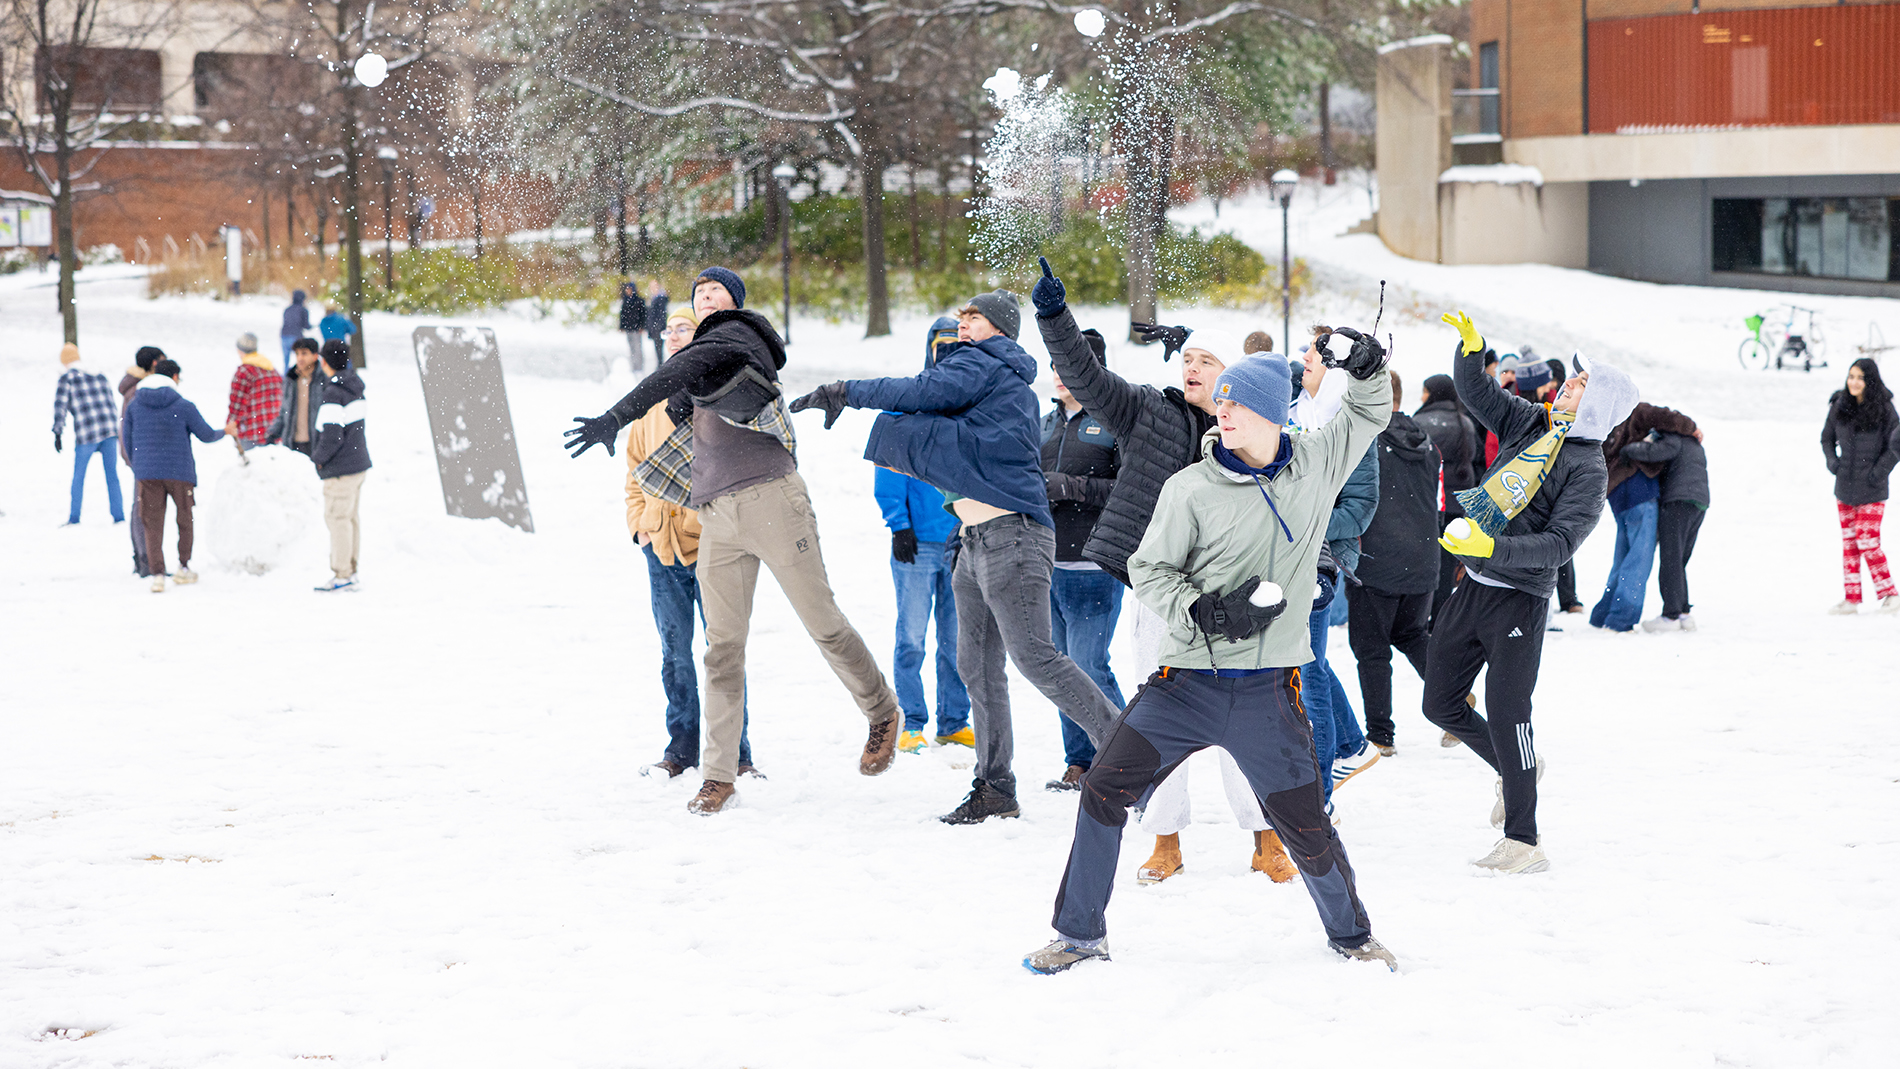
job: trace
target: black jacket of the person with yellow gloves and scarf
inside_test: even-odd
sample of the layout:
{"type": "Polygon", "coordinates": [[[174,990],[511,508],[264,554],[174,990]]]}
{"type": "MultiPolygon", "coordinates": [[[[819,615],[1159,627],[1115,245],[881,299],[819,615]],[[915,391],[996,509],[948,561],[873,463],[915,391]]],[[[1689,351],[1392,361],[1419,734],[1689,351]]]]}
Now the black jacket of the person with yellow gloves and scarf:
{"type": "MultiPolygon", "coordinates": [[[[1550,431],[1550,412],[1535,401],[1499,389],[1492,376],[1484,374],[1484,353],[1465,353],[1463,342],[1454,342],[1454,347],[1452,382],[1457,385],[1457,399],[1478,425],[1497,435],[1497,459],[1486,471],[1490,477],[1550,431]]],[[[1505,534],[1497,535],[1492,556],[1457,560],[1467,572],[1548,598],[1556,591],[1556,570],[1577,553],[1604,518],[1607,492],[1609,465],[1604,463],[1604,442],[1566,439],[1537,496],[1512,516],[1505,534]]]]}

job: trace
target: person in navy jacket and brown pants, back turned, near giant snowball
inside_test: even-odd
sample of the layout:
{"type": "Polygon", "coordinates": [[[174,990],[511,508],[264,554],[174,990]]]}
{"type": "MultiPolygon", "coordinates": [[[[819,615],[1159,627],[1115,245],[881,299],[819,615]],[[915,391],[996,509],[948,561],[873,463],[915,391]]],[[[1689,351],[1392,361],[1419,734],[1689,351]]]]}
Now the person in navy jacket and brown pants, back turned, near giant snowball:
{"type": "Polygon", "coordinates": [[[192,437],[215,442],[236,427],[222,431],[205,423],[198,406],[179,393],[179,361],[163,359],[152,365],[152,374],[139,380],[139,389],[125,403],[120,433],[131,442],[131,471],[139,478],[139,513],[144,516],[144,556],[152,570],[152,592],[165,592],[165,503],[179,511],[179,572],[173,583],[196,583],[192,572],[192,494],[198,486],[198,461],[192,458],[192,437]]]}

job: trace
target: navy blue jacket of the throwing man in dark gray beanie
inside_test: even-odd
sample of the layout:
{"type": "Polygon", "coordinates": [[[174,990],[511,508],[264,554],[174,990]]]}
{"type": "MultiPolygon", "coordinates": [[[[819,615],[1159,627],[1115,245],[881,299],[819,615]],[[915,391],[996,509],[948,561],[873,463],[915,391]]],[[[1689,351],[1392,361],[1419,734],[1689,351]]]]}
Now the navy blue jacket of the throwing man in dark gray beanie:
{"type": "Polygon", "coordinates": [[[1054,530],[1043,490],[1036,361],[998,334],[958,342],[916,378],[847,382],[853,408],[884,408],[864,459],[931,486],[1022,513],[1054,530]]]}

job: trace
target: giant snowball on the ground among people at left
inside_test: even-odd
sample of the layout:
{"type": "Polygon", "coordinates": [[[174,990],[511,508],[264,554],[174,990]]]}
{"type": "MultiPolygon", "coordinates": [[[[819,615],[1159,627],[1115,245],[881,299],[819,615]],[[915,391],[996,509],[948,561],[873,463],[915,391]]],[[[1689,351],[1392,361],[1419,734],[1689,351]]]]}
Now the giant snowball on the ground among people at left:
{"type": "MultiPolygon", "coordinates": [[[[281,446],[249,452],[251,463],[218,477],[198,520],[211,556],[232,572],[262,575],[283,566],[308,535],[323,534],[323,486],[310,459],[281,446]]],[[[310,566],[321,553],[310,556],[310,566]]]]}

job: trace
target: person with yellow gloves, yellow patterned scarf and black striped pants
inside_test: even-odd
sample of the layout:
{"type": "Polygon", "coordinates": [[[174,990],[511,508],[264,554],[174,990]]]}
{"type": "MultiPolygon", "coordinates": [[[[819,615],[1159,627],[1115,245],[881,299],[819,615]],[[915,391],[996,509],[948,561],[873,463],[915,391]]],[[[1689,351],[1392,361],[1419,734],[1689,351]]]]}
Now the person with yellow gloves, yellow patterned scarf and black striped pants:
{"type": "Polygon", "coordinates": [[[1497,435],[1497,459],[1478,486],[1457,492],[1465,518],[1452,520],[1438,539],[1465,566],[1465,581],[1433,623],[1423,712],[1499,777],[1492,826],[1505,837],[1472,864],[1499,873],[1543,872],[1550,868],[1537,843],[1545,760],[1531,742],[1531,691],[1556,570],[1604,515],[1609,473],[1602,446],[1636,408],[1636,384],[1579,353],[1575,376],[1543,406],[1484,374],[1492,353],[1469,315],[1452,311],[1444,321],[1461,338],[1452,361],[1457,399],[1497,435]],[[1465,695],[1486,665],[1486,716],[1478,716],[1465,695]]]}

